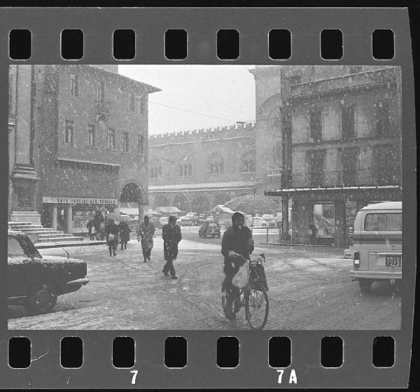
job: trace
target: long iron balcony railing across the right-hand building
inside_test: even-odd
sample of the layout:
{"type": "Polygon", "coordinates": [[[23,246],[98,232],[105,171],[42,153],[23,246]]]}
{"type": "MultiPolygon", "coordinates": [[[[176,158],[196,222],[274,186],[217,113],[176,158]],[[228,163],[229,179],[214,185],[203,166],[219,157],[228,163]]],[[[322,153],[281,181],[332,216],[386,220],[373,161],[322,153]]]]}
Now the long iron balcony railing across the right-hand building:
{"type": "Polygon", "coordinates": [[[342,188],[349,186],[398,186],[398,169],[358,169],[335,172],[291,173],[267,172],[268,188],[342,188]]]}

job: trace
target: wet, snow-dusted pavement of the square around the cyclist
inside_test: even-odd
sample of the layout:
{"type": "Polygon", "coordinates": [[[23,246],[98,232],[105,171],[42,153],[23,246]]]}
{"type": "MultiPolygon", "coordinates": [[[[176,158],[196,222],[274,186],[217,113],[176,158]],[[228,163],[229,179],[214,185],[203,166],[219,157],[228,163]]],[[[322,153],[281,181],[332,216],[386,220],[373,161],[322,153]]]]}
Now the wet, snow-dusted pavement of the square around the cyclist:
{"type": "MultiPolygon", "coordinates": [[[[59,296],[50,314],[27,316],[23,307],[9,306],[9,329],[248,329],[244,309],[235,321],[223,315],[221,240],[199,240],[194,229],[183,233],[175,262],[178,280],[162,274],[160,237],[147,263],[133,239],[116,257],[107,255],[104,245],[66,248],[72,258],[87,262],[90,282],[59,296]]],[[[374,283],[372,293],[361,295],[349,276],[352,260],[343,258],[342,249],[266,246],[255,254],[260,251],[267,257],[269,285],[265,329],[400,328],[401,298],[388,283],[374,283]]],[[[65,255],[59,248],[42,249],[41,254],[65,255]]]]}

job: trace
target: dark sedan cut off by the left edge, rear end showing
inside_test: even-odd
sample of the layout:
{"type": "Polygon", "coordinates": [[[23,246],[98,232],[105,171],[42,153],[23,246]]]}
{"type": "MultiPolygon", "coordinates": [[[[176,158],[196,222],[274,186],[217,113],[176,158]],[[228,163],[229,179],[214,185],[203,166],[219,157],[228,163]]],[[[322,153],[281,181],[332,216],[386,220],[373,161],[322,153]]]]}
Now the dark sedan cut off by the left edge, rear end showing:
{"type": "Polygon", "coordinates": [[[57,297],[77,291],[89,279],[82,260],[41,256],[22,232],[8,232],[8,304],[22,304],[29,314],[51,311],[57,297]]]}

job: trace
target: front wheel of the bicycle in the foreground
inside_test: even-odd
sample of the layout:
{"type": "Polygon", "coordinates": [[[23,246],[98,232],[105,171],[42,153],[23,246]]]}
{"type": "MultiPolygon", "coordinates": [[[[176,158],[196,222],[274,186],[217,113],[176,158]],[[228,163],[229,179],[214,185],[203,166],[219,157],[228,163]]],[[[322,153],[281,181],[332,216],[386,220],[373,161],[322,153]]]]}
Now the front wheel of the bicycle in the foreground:
{"type": "Polygon", "coordinates": [[[268,318],[268,295],[265,288],[252,281],[245,293],[245,315],[253,330],[262,330],[268,318]]]}

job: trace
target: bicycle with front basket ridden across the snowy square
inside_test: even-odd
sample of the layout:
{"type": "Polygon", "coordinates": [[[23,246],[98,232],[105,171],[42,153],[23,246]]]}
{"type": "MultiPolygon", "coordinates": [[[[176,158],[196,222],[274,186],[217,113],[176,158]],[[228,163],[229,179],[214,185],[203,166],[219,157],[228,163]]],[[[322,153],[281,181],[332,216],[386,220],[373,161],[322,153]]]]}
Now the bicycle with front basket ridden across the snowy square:
{"type": "MultiPolygon", "coordinates": [[[[238,258],[243,262],[248,261],[241,255],[238,258]]],[[[233,320],[241,307],[245,307],[246,321],[253,330],[262,330],[268,319],[267,281],[265,276],[258,272],[258,265],[263,267],[264,262],[264,253],[260,253],[258,258],[254,260],[249,260],[248,284],[246,287],[235,288],[232,293],[228,293],[225,281],[222,283],[222,306],[225,316],[233,320]]]]}

